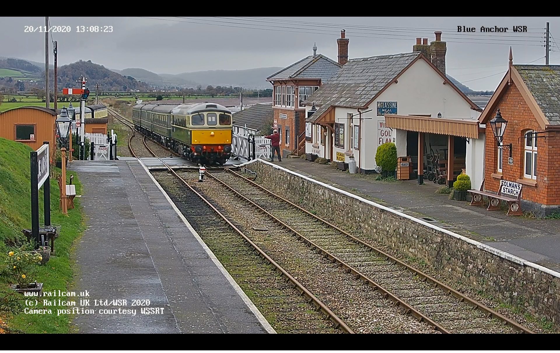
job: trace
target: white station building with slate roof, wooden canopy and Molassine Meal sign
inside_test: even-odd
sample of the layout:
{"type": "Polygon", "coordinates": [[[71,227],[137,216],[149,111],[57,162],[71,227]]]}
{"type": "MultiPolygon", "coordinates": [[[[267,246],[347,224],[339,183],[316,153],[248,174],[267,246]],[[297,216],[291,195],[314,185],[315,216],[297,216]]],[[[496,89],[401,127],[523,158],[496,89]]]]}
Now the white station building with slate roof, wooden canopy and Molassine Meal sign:
{"type": "Polygon", "coordinates": [[[344,63],[304,102],[305,152],[343,164],[353,156],[362,173],[371,173],[377,147],[394,142],[398,156],[410,156],[416,166],[412,177],[426,170],[424,155],[432,148],[450,159],[449,182],[462,169],[482,179],[482,166],[477,171],[467,163],[474,147],[483,150],[475,141],[482,137],[482,109],[446,77],[446,43],[440,31],[435,35],[431,44],[417,38],[410,53],[344,63]]]}

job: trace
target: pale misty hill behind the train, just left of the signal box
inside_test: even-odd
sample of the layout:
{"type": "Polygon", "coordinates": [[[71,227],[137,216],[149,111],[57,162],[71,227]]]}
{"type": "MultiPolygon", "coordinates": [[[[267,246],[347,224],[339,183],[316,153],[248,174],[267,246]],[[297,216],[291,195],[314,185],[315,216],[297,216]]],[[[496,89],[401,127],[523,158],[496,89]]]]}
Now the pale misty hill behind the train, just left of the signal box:
{"type": "MultiPolygon", "coordinates": [[[[208,70],[184,72],[176,77],[184,80],[200,82],[201,85],[212,86],[241,86],[248,88],[269,88],[267,77],[278,72],[282,67],[259,67],[246,70],[208,70]]],[[[160,76],[168,77],[171,75],[162,74],[160,76]]]]}

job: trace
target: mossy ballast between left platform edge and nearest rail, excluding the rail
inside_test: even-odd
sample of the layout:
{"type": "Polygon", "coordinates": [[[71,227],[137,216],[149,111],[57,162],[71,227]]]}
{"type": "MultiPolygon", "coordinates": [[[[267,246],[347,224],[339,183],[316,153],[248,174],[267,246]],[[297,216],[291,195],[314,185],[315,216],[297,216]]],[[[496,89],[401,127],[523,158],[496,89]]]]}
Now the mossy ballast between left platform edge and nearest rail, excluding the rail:
{"type": "Polygon", "coordinates": [[[174,175],[153,176],[278,333],[343,333],[174,175]]]}

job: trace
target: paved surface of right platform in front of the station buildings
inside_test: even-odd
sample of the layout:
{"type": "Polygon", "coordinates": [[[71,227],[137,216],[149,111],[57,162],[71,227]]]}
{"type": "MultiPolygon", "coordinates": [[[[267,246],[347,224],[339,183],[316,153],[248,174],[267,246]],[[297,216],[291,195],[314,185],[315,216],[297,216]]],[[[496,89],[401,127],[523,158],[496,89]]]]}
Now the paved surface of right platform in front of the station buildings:
{"type": "Polygon", "coordinates": [[[510,217],[505,211],[469,206],[468,202],[435,193],[441,185],[431,182],[424,185],[418,185],[416,180],[380,182],[375,180],[376,175],[349,174],[303,159],[287,158],[275,164],[348,192],[369,196],[383,205],[403,207],[410,215],[445,222],[455,226],[451,230],[456,233],[560,271],[560,220],[510,217]]]}

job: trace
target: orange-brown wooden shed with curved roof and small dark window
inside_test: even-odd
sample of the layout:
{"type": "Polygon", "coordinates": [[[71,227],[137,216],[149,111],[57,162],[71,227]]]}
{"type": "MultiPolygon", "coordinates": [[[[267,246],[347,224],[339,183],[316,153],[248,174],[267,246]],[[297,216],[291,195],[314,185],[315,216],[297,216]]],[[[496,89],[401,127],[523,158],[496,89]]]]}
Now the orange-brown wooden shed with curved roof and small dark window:
{"type": "Polygon", "coordinates": [[[43,141],[50,143],[50,158],[54,160],[56,150],[57,114],[41,106],[22,106],[0,113],[0,137],[25,143],[37,150],[43,141]]]}

